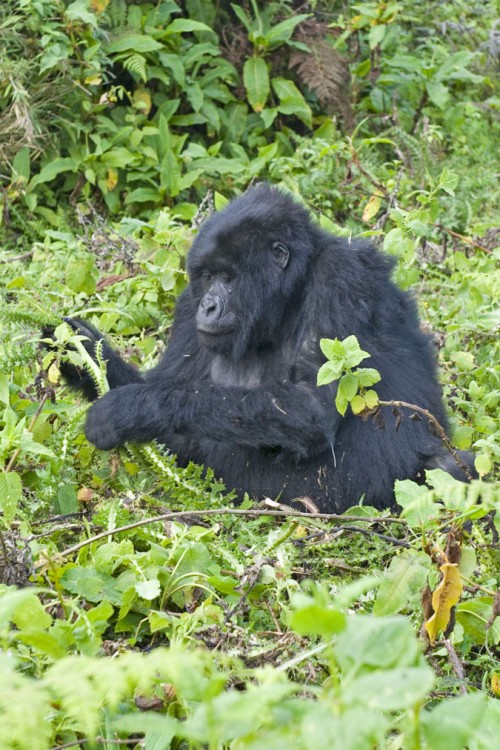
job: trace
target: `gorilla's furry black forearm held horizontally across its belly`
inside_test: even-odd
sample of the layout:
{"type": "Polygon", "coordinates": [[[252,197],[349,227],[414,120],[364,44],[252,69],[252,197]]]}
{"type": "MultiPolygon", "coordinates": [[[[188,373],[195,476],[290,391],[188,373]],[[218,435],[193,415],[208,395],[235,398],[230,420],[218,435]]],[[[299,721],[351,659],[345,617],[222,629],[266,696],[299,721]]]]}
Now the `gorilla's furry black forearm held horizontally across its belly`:
{"type": "Polygon", "coordinates": [[[323,389],[321,395],[325,401],[307,385],[288,384],[249,389],[167,379],[161,386],[127,385],[89,409],[85,433],[104,450],[127,440],[157,439],[169,447],[183,435],[304,460],[333,445],[340,419],[328,403],[331,394],[323,389]]]}

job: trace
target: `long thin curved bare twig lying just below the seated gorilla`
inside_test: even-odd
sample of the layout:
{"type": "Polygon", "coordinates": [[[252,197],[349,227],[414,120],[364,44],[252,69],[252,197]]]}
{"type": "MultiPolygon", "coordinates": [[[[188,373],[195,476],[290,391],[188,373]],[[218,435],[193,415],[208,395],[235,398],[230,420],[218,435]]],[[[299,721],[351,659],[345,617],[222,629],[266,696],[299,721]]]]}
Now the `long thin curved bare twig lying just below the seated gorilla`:
{"type": "MultiPolygon", "coordinates": [[[[113,536],[114,534],[121,534],[124,531],[130,531],[131,529],[136,529],[139,526],[147,526],[150,523],[159,523],[161,521],[172,521],[177,518],[190,518],[190,517],[197,517],[197,516],[248,516],[250,518],[260,518],[262,516],[273,516],[276,518],[307,518],[309,521],[320,518],[325,521],[345,521],[345,516],[338,515],[336,513],[303,513],[301,511],[295,511],[292,508],[288,510],[242,510],[241,508],[216,508],[211,510],[180,510],[176,511],[174,513],[163,513],[161,516],[153,516],[152,518],[143,518],[140,521],[134,521],[134,523],[129,523],[126,526],[118,526],[116,529],[112,529],[111,531],[108,529],[107,531],[102,531],[100,534],[96,534],[95,536],[90,537],[89,539],[85,539],[83,542],[79,542],[78,544],[74,544],[72,547],[68,547],[67,549],[63,550],[62,552],[58,553],[58,556],[60,557],[67,557],[68,555],[72,555],[74,552],[78,552],[83,547],[86,547],[89,544],[93,544],[94,542],[98,542],[101,539],[106,539],[109,536],[113,536]]],[[[378,517],[378,518],[372,518],[367,516],[349,516],[350,521],[364,521],[365,523],[399,523],[402,525],[406,525],[406,521],[402,518],[392,518],[392,517],[378,517]]],[[[39,562],[35,565],[35,570],[39,570],[41,567],[43,567],[44,562],[39,562]]]]}

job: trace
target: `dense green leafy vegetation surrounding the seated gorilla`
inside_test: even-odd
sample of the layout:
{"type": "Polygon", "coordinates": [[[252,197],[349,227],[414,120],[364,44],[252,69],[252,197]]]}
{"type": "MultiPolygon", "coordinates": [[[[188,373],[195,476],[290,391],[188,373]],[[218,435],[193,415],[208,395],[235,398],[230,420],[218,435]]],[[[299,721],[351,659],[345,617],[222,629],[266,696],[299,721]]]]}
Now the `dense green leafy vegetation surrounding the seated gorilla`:
{"type": "MultiPolygon", "coordinates": [[[[1,3],[2,750],[498,742],[494,10],[1,3]],[[397,483],[400,516],[326,518],[86,442],[63,316],[151,366],[196,227],[253,179],[396,258],[480,480],[433,471],[397,483]]],[[[323,347],[339,408],[376,406],[357,342],[323,347]]]]}

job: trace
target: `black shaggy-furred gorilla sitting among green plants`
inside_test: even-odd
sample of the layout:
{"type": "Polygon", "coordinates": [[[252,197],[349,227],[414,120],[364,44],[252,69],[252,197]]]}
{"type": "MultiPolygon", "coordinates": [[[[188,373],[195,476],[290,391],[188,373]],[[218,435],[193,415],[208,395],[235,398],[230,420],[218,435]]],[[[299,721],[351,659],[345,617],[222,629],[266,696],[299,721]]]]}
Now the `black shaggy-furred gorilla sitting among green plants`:
{"type": "MultiPolygon", "coordinates": [[[[112,390],[88,412],[88,439],[105,450],[157,439],[240,496],[308,496],[331,512],[363,495],[390,505],[396,479],[446,466],[440,439],[409,415],[397,427],[387,407],[383,429],[342,418],[335,384],[319,388],[316,375],[319,340],[354,334],[382,376],[381,399],[418,404],[446,424],[432,347],[391,267],[369,243],[323,231],[289,195],[248,190],[201,227],[158,366],[141,374],[104,342],[112,390]]],[[[90,349],[102,338],[72,323],[90,349]]],[[[85,375],[65,374],[95,398],[85,375]]]]}

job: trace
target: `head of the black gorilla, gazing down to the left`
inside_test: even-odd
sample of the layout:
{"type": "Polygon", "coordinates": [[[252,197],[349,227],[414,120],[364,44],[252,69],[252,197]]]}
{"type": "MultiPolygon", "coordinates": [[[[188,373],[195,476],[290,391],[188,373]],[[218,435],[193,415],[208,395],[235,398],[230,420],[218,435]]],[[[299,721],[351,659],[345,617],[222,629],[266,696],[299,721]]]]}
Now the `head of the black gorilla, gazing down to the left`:
{"type": "Polygon", "coordinates": [[[201,344],[233,360],[272,344],[298,305],[316,231],[305,208],[268,185],[213,214],[188,257],[201,344]]]}

